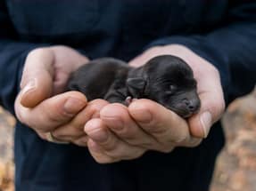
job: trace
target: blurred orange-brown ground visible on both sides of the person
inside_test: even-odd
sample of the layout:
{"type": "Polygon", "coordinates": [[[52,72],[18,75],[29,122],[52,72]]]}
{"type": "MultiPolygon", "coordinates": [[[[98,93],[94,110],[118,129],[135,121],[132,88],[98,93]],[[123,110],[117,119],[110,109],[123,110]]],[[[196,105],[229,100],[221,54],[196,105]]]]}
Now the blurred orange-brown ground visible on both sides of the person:
{"type": "MultiPolygon", "coordinates": [[[[211,191],[256,190],[256,91],[236,99],[222,118],[226,147],[216,163],[211,191]]],[[[0,191],[13,191],[13,126],[0,107],[0,191]]]]}

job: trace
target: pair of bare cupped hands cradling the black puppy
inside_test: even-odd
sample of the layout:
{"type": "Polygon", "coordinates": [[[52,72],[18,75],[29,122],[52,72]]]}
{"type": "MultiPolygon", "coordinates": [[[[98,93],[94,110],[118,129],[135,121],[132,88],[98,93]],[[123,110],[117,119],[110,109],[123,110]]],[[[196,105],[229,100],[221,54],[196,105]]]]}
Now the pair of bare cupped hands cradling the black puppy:
{"type": "MultiPolygon", "coordinates": [[[[68,47],[58,46],[34,50],[32,56],[29,54],[22,76],[21,92],[15,103],[16,115],[22,123],[37,131],[42,139],[45,139],[45,132],[52,131],[56,139],[88,147],[98,163],[134,159],[147,150],[170,152],[174,147],[195,147],[207,137],[212,123],[219,120],[223,113],[225,104],[218,70],[184,46],[173,44],[153,47],[131,60],[129,65],[139,67],[162,54],[172,54],[185,60],[194,70],[202,104],[200,111],[188,120],[149,99],[137,99],[125,107],[117,103],[109,104],[103,99],[87,103],[87,99],[79,92],[56,95],[55,92],[62,92],[62,85],[67,83],[67,76],[76,66],[66,68],[68,71],[65,77],[57,75],[62,85],[56,85],[58,83],[53,80],[56,79],[54,66],[63,68],[63,60],[45,64],[45,57],[49,59],[48,54],[58,57],[58,54],[68,52],[74,53],[68,47]],[[41,76],[42,73],[38,72],[35,75],[35,64],[47,75],[41,76]],[[62,107],[67,99],[74,99],[76,103],[62,107]],[[65,112],[66,109],[71,112],[65,112]]],[[[78,65],[87,61],[78,52],[69,58],[74,59],[69,61],[78,65]]]]}

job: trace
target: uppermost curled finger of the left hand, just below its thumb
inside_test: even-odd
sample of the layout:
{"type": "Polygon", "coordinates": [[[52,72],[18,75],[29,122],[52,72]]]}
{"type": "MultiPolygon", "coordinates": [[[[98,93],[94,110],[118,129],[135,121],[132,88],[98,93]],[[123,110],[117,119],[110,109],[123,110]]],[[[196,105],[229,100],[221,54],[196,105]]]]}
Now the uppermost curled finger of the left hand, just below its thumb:
{"type": "Polygon", "coordinates": [[[80,92],[65,92],[45,99],[37,107],[23,107],[18,96],[15,102],[16,115],[21,123],[37,131],[53,131],[69,122],[87,105],[86,97],[80,92]]]}

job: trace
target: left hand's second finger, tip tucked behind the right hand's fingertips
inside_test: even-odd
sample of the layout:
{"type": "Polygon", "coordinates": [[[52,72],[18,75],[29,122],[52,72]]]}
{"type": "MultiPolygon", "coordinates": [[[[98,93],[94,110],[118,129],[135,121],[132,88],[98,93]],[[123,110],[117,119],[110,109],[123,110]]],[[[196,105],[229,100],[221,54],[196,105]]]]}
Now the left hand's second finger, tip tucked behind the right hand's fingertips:
{"type": "Polygon", "coordinates": [[[92,118],[100,116],[100,110],[106,106],[108,102],[103,99],[95,99],[88,102],[87,107],[81,110],[69,123],[66,123],[54,131],[52,134],[55,138],[65,141],[75,141],[83,135],[84,126],[92,118]]]}

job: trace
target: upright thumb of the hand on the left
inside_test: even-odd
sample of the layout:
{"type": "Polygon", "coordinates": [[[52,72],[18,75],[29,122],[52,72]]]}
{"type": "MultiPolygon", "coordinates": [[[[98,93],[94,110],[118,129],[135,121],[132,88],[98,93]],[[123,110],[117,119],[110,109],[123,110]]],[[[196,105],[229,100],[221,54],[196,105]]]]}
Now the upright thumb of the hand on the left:
{"type": "Polygon", "coordinates": [[[21,105],[35,107],[53,92],[54,53],[46,48],[29,53],[21,77],[21,105]]]}

